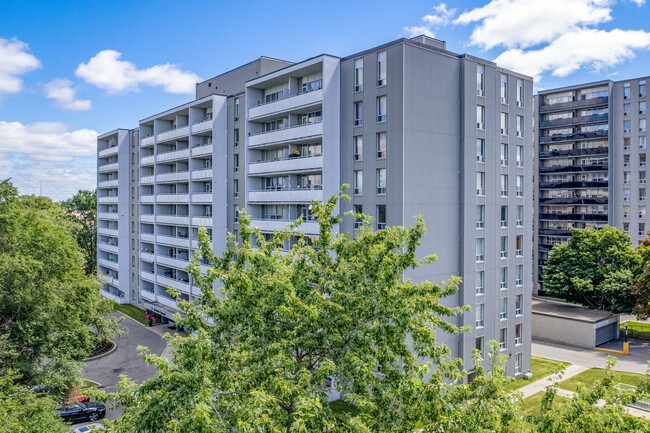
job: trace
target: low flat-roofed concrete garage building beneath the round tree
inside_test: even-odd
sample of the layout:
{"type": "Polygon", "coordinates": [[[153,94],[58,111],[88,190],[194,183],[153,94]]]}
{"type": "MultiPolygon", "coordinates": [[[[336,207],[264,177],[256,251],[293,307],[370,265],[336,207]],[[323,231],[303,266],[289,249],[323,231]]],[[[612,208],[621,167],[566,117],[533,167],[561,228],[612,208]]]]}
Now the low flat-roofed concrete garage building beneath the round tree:
{"type": "Polygon", "coordinates": [[[620,317],[609,311],[533,299],[533,338],[593,349],[619,337],[620,317]]]}

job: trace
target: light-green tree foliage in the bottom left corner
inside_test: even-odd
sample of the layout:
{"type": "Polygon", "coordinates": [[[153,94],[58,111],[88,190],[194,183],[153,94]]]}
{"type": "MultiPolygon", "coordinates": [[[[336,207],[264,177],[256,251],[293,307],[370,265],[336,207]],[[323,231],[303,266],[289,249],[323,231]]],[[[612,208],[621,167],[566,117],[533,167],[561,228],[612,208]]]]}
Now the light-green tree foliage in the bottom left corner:
{"type": "Polygon", "coordinates": [[[67,433],[70,428],[54,410],[50,398],[38,398],[18,385],[13,371],[0,375],[0,432],[67,433]]]}

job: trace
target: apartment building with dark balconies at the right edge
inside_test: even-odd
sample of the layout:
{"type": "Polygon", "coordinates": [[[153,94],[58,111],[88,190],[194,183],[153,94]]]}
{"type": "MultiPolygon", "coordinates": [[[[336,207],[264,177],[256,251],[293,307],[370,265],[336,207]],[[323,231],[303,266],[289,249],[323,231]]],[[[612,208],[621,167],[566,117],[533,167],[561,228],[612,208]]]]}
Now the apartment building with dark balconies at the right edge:
{"type": "Polygon", "coordinates": [[[619,227],[633,246],[645,238],[646,80],[539,92],[536,289],[549,251],[573,227],[619,227]]]}

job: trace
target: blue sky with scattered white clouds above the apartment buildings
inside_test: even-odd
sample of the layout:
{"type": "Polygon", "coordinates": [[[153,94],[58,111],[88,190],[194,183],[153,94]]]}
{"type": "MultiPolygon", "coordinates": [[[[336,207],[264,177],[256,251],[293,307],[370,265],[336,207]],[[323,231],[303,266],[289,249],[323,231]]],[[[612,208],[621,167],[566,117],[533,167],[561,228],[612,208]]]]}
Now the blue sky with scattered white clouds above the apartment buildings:
{"type": "Polygon", "coordinates": [[[95,187],[95,136],[192,99],[261,55],[345,56],[435,35],[548,89],[650,75],[645,0],[292,2],[2,0],[0,179],[21,193],[95,187]]]}

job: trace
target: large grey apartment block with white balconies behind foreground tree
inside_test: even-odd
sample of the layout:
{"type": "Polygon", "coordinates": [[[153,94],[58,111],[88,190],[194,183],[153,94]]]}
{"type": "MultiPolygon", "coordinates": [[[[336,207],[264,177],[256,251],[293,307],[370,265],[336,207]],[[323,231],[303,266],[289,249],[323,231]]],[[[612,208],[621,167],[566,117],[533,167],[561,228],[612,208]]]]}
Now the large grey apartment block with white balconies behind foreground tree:
{"type": "MultiPolygon", "coordinates": [[[[194,101],[139,124],[145,307],[169,319],[168,287],[199,294],[184,269],[200,226],[217,253],[241,209],[269,236],[300,217],[317,236],[311,201],[348,183],[339,211],[371,215],[378,230],[423,215],[420,252],[439,259],[407,277],[463,278],[444,302],[472,307],[456,322],[472,331],[440,334],[452,355],[471,370],[471,352],[496,340],[510,375],[528,371],[533,105],[530,77],[424,36],[347,57],[263,57],[197,84],[194,101]]],[[[356,228],[344,218],[336,230],[356,228]]]]}

